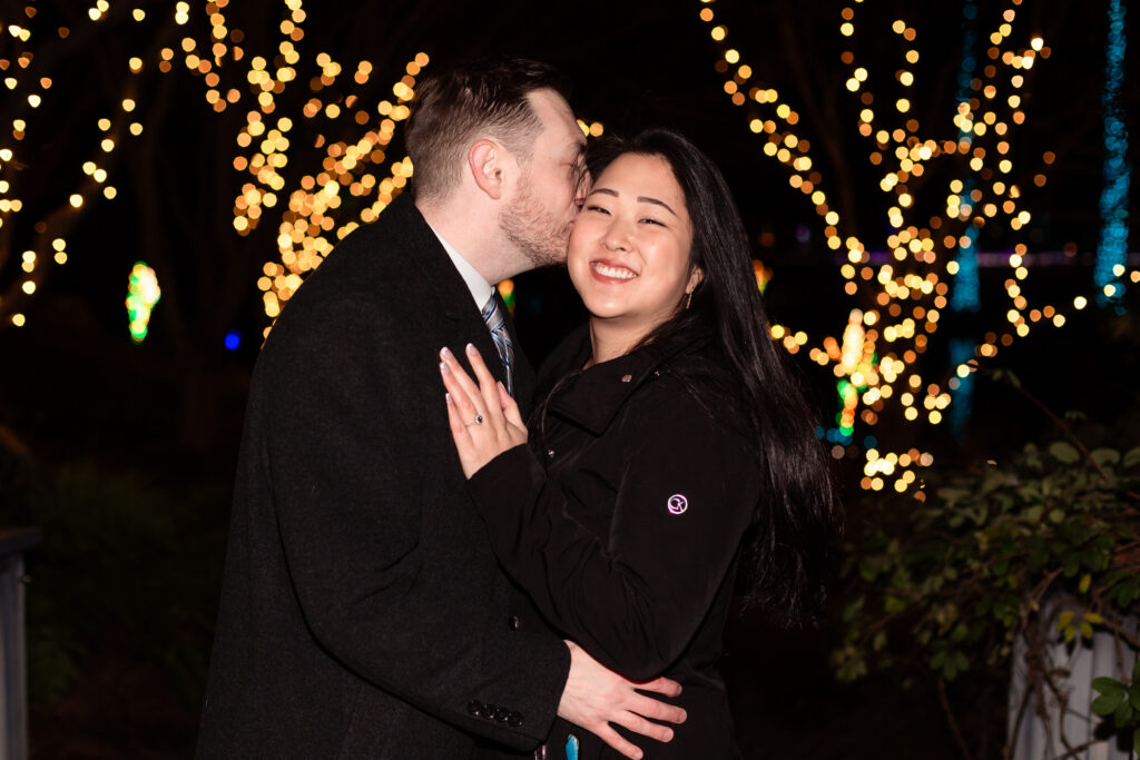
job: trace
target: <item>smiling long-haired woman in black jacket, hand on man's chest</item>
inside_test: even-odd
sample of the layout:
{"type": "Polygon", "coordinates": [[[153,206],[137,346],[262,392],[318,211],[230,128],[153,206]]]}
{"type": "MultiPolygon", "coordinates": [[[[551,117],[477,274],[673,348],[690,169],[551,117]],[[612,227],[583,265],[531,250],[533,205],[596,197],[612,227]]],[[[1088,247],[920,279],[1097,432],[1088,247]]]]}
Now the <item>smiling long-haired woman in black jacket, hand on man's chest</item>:
{"type": "MultiPolygon", "coordinates": [[[[634,680],[679,681],[689,719],[645,757],[739,757],[717,671],[738,566],[798,620],[836,517],[795,374],[772,343],[719,171],[650,130],[593,152],[568,268],[586,329],[527,427],[472,348],[440,365],[451,432],[496,555],[546,620],[634,680]]],[[[628,735],[627,735],[628,737],[628,735]]],[[[547,757],[620,757],[559,721],[547,757]]]]}

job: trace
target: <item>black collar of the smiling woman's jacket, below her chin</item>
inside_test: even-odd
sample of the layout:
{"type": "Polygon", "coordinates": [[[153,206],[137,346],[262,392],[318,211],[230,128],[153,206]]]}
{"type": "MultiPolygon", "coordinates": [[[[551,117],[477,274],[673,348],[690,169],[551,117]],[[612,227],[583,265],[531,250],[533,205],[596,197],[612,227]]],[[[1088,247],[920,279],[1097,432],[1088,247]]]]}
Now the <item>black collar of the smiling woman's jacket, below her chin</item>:
{"type": "MultiPolygon", "coordinates": [[[[577,367],[589,357],[588,329],[583,330],[580,340],[583,345],[575,352],[577,367]]],[[[546,409],[601,435],[637,389],[660,377],[674,360],[700,351],[711,341],[711,330],[698,328],[665,344],[650,343],[594,365],[555,386],[546,409]]]]}

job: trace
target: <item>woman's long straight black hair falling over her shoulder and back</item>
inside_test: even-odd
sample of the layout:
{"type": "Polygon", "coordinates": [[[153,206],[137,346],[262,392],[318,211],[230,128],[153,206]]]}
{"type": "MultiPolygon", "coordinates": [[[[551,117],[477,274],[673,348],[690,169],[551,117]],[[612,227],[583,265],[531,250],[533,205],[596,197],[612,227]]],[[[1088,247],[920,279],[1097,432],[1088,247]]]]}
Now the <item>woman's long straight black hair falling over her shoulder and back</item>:
{"type": "Polygon", "coordinates": [[[660,156],[673,169],[692,220],[692,263],[705,275],[689,308],[678,303],[676,316],[642,343],[668,343],[701,325],[716,333],[742,384],[734,394],[736,422],[755,440],[767,477],[741,580],[752,602],[784,622],[803,622],[823,598],[839,504],[800,374],[772,341],[744,226],[716,164],[682,134],[657,128],[596,141],[587,157],[591,174],[597,178],[629,153],[660,156]]]}

